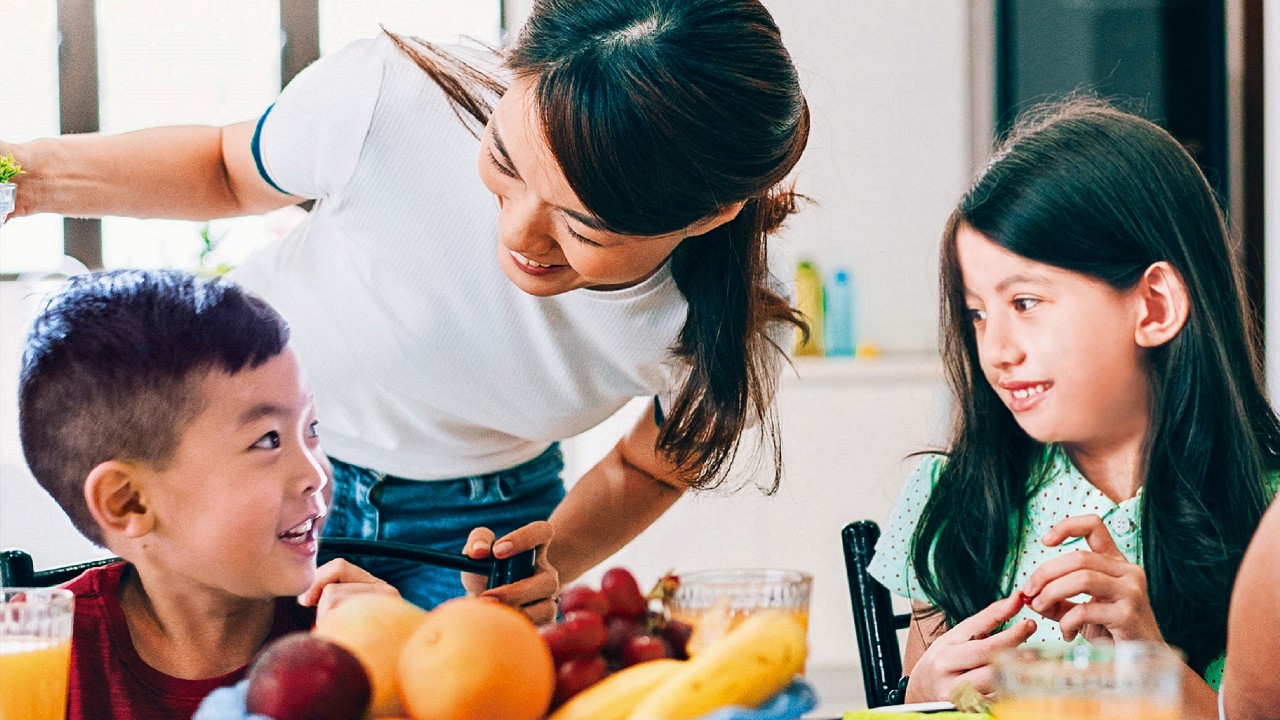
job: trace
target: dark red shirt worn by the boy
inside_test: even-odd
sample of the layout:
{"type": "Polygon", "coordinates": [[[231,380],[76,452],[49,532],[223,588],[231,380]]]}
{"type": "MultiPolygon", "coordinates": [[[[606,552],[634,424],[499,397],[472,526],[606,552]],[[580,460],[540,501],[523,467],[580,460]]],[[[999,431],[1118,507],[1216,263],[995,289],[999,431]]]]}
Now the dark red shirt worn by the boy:
{"type": "MultiPolygon", "coordinates": [[[[63,585],[76,593],[67,720],[191,720],[205,696],[239,682],[246,667],[218,678],[183,680],[143,662],[119,602],[127,568],[125,562],[95,568],[63,585]]],[[[314,609],[280,598],[268,641],[314,624],[314,609]]]]}

